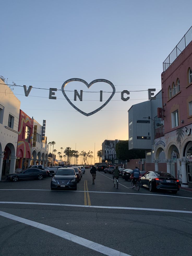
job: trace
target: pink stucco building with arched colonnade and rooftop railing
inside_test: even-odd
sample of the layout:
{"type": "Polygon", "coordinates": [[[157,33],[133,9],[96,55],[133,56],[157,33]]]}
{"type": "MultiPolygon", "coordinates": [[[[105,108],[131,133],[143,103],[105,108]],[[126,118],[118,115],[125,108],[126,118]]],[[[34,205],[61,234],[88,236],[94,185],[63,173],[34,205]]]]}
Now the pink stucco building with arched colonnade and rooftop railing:
{"type": "Polygon", "coordinates": [[[167,172],[192,187],[192,27],[163,63],[164,136],[155,140],[155,169],[164,151],[167,172]]]}

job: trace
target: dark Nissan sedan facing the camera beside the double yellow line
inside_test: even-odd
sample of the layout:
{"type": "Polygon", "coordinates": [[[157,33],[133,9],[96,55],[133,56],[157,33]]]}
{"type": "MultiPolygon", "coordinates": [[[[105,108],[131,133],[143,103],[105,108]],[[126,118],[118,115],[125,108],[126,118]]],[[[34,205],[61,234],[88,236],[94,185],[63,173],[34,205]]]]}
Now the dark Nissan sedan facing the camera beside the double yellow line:
{"type": "Polygon", "coordinates": [[[51,179],[51,190],[70,188],[77,190],[77,177],[73,168],[59,168],[51,179]]]}

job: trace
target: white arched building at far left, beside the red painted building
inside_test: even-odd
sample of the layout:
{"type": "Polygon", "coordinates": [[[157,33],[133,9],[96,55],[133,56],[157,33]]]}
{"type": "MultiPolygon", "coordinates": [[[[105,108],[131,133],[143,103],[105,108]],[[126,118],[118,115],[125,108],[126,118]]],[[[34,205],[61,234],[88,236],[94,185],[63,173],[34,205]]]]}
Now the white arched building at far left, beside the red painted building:
{"type": "Polygon", "coordinates": [[[0,180],[15,171],[20,100],[0,79],[0,180]]]}

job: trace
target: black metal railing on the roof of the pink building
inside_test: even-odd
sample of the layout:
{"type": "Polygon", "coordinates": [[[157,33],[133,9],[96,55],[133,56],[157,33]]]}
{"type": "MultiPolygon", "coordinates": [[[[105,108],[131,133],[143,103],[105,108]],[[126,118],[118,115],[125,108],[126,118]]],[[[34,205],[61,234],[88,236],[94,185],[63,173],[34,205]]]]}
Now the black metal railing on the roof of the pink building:
{"type": "Polygon", "coordinates": [[[192,26],[189,28],[184,37],[175,46],[169,56],[163,62],[163,71],[165,71],[173,63],[173,61],[179,56],[179,54],[188,46],[192,41],[192,26]]]}

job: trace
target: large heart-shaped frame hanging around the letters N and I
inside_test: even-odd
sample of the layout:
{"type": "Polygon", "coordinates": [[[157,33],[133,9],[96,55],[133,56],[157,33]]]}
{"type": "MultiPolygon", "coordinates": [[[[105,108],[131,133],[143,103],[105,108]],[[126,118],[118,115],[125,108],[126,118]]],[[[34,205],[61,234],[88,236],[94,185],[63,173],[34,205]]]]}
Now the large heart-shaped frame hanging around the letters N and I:
{"type": "Polygon", "coordinates": [[[101,110],[102,108],[104,108],[107,103],[110,102],[110,100],[113,98],[114,94],[115,94],[115,86],[112,84],[112,82],[110,82],[109,80],[106,80],[106,79],[95,79],[93,80],[91,83],[87,83],[85,80],[83,79],[80,79],[80,78],[71,78],[71,79],[68,79],[67,81],[65,81],[63,84],[62,84],[62,87],[61,87],[61,90],[62,90],[62,93],[65,97],[65,99],[70,103],[70,105],[76,109],[78,112],[80,112],[81,114],[85,115],[85,116],[91,116],[95,113],[97,113],[99,110],[101,110]],[[82,82],[83,84],[85,84],[87,86],[87,88],[89,89],[89,87],[91,87],[93,84],[97,83],[97,82],[105,82],[107,84],[109,84],[112,89],[113,89],[113,92],[111,93],[111,96],[109,97],[109,99],[106,100],[106,102],[100,106],[99,108],[95,109],[94,111],[90,112],[90,113],[86,113],[86,112],[83,112],[82,110],[80,110],[79,108],[77,108],[71,101],[70,99],[67,97],[67,95],[65,94],[65,86],[69,83],[69,82],[73,82],[73,81],[78,81],[78,82],[82,82]]]}

